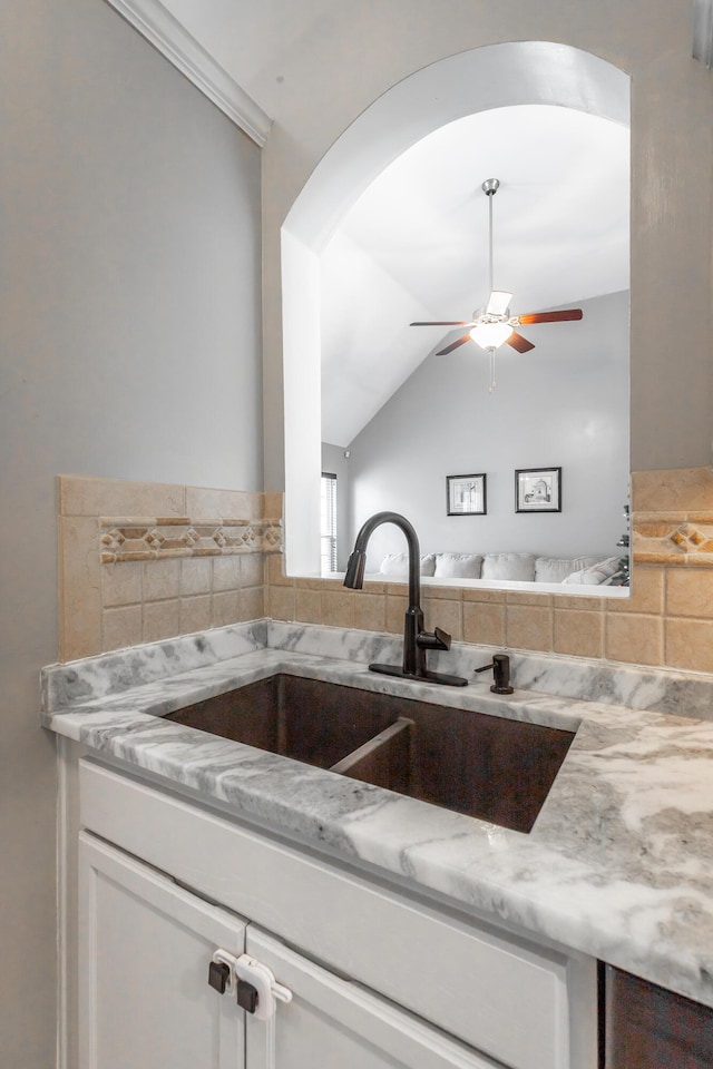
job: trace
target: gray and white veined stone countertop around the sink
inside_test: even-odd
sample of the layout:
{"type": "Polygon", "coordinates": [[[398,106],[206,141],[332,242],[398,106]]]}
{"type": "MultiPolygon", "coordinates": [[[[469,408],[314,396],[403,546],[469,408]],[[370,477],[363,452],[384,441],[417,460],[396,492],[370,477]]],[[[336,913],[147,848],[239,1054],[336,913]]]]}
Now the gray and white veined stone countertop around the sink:
{"type": "Polygon", "coordinates": [[[350,862],[713,1007],[713,677],[512,654],[429,655],[467,688],[370,673],[393,636],[258,621],[43,669],[43,724],[350,862]],[[529,834],[160,719],[277,671],[576,732],[529,834]],[[550,693],[548,693],[550,692],[550,693]],[[578,697],[576,696],[578,695],[578,697]]]}

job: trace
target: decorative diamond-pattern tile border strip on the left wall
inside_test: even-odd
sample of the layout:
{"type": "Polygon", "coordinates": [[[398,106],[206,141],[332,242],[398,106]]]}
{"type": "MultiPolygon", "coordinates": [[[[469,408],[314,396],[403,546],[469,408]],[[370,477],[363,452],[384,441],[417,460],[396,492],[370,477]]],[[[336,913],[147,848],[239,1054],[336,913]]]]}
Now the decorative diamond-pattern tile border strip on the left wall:
{"type": "Polygon", "coordinates": [[[192,519],[191,517],[100,517],[101,563],[276,553],[280,520],[192,519]]]}

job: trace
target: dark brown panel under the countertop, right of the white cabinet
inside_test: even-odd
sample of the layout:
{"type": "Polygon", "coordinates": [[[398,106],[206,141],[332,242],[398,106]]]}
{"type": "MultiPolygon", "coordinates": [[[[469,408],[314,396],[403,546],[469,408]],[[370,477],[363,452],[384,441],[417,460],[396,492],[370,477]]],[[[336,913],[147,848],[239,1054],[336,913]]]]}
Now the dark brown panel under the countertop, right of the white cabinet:
{"type": "Polygon", "coordinates": [[[604,1069],[712,1069],[713,1010],[605,967],[604,1069]]]}

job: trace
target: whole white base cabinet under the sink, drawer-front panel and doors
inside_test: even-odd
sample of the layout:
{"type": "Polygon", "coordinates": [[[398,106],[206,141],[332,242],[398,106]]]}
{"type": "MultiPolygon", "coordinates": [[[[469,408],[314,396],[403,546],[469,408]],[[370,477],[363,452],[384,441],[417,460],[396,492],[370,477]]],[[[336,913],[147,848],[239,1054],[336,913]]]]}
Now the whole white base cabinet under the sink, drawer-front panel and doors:
{"type": "Polygon", "coordinates": [[[418,900],[99,762],[80,764],[84,827],[154,866],[96,841],[90,851],[82,833],[81,1001],[96,1023],[80,1069],[233,1067],[242,1028],[246,1069],[595,1069],[592,959],[418,900]],[[270,1027],[243,1023],[235,1000],[207,987],[214,950],[243,945],[293,992],[270,1027]],[[134,1020],[144,1038],[111,1060],[134,1020]],[[166,1020],[191,1041],[155,1036],[166,1020]],[[152,1045],[160,1057],[141,1061],[152,1045]]]}

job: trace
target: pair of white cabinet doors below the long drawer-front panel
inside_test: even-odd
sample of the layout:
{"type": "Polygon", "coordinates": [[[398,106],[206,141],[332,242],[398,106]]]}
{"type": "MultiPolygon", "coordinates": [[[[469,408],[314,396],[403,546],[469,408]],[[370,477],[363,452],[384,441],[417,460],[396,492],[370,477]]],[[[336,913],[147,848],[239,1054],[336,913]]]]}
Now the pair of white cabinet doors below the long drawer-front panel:
{"type": "Polygon", "coordinates": [[[492,1067],[87,833],[79,864],[81,1069],[492,1067]],[[208,983],[213,959],[244,954],[291,996],[268,1020],[241,1009],[234,972],[208,983]]]}

